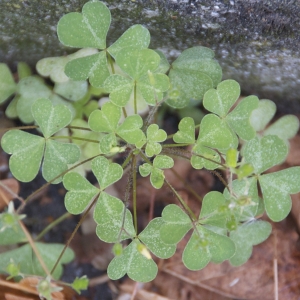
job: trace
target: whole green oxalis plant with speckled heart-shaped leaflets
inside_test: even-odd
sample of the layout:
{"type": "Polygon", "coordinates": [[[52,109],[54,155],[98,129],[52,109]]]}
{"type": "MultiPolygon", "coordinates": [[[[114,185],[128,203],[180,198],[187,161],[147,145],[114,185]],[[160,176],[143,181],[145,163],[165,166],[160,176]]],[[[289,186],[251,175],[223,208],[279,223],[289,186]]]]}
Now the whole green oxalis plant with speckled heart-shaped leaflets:
{"type": "MultiPolygon", "coordinates": [[[[108,46],[110,23],[110,11],[99,1],[87,2],[81,13],[60,19],[60,42],[82,49],[38,62],[38,73],[50,77],[53,86],[32,76],[24,66],[15,83],[1,65],[1,101],[15,94],[6,114],[33,123],[2,137],[3,150],[11,154],[11,173],[19,181],[30,182],[41,169],[48,184],[62,182],[67,211],[84,213],[79,225],[94,209],[97,236],[114,244],[115,257],[107,269],[113,280],[126,274],[139,282],[153,280],[158,271],[153,257],[172,257],[188,232],[192,234],[182,253],[188,269],[200,270],[209,262],[225,260],[242,265],[253,246],[271,234],[271,224],[261,219],[263,214],[274,222],[283,220],[291,210],[290,194],[300,191],[300,167],[268,171],[286,159],[288,139],[297,133],[298,119],[288,115],[267,126],[275,104],[256,96],[240,99],[236,81],[221,81],[222,71],[212,50],[193,47],[170,64],[162,52],[148,49],[150,34],[141,25],[133,25],[108,46]],[[109,100],[98,108],[95,98],[102,94],[109,100]],[[202,101],[209,112],[200,124],[185,117],[178,131],[167,136],[154,122],[162,103],[180,109],[191,101],[202,101]],[[32,128],[37,134],[24,131],[32,128]],[[123,163],[114,162],[121,155],[126,157],[123,163]],[[223,193],[207,193],[200,212],[193,211],[165,177],[174,159],[189,160],[195,169],[223,172],[223,193]],[[98,187],[85,178],[86,170],[95,175],[98,187]],[[123,176],[128,183],[124,198],[119,199],[106,189],[123,176]],[[175,202],[142,231],[137,222],[138,176],[148,177],[155,189],[169,188],[175,202]]],[[[19,225],[23,217],[13,205],[1,214],[2,241],[24,241],[19,225]]],[[[36,243],[42,255],[45,246],[49,249],[36,243]]],[[[56,263],[48,262],[55,266],[44,280],[58,278],[61,270],[55,273],[56,267],[72,259],[70,254],[63,260],[71,251],[67,246],[57,248],[61,255],[56,263]]],[[[17,277],[39,269],[37,274],[45,276],[38,262],[26,269],[24,253],[30,250],[26,244],[0,254],[2,271],[17,277]]],[[[87,284],[86,278],[80,280],[73,284],[77,291],[87,284]]],[[[51,290],[47,293],[42,295],[50,299],[51,290]]]]}

